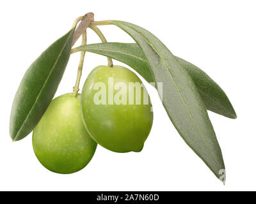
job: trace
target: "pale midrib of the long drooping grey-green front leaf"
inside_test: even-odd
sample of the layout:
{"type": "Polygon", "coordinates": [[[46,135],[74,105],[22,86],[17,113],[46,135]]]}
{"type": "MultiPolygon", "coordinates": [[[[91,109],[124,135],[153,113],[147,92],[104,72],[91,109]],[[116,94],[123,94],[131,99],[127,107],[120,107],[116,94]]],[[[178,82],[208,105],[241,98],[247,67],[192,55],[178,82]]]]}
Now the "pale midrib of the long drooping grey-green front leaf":
{"type": "MultiPolygon", "coordinates": [[[[124,26],[128,27],[127,25],[124,25],[124,26]]],[[[133,29],[132,27],[128,27],[128,28],[130,28],[130,29],[136,31],[137,33],[140,33],[140,31],[137,31],[136,29],[133,29]]],[[[150,43],[150,41],[148,41],[147,38],[146,38],[143,34],[140,33],[140,35],[144,38],[145,41],[147,41],[147,43],[150,45],[150,47],[152,47],[152,48],[154,49],[154,51],[157,53],[157,55],[159,55],[161,61],[162,61],[163,64],[164,64],[164,67],[168,70],[168,73],[169,73],[170,77],[172,78],[173,83],[175,84],[175,87],[177,88],[177,90],[178,90],[178,92],[179,92],[180,98],[182,99],[182,102],[184,103],[184,106],[186,107],[186,110],[188,111],[189,116],[191,117],[191,120],[193,120],[193,123],[195,124],[195,127],[196,127],[196,129],[198,130],[198,133],[200,133],[201,138],[203,139],[205,145],[206,145],[206,146],[208,147],[208,149],[209,149],[209,145],[207,144],[207,142],[205,142],[204,135],[202,135],[202,132],[200,131],[200,129],[198,129],[198,125],[196,124],[195,119],[193,118],[193,115],[192,115],[191,112],[188,110],[188,105],[186,104],[186,101],[184,101],[184,97],[182,96],[182,93],[180,92],[179,87],[177,86],[175,80],[173,79],[172,73],[170,73],[170,71],[169,71],[169,69],[168,69],[168,66],[166,65],[166,62],[163,60],[163,57],[161,57],[161,55],[160,55],[159,52],[156,50],[156,48],[154,47],[154,45],[152,45],[152,43],[150,43]]],[[[139,45],[139,46],[140,46],[140,45],[139,45]]],[[[149,63],[148,63],[148,64],[149,64],[149,63]]],[[[182,134],[180,134],[180,135],[182,135],[182,134]]],[[[209,149],[209,150],[210,150],[210,152],[211,152],[211,154],[212,154],[211,149],[209,149]]],[[[218,162],[216,161],[216,158],[214,157],[214,154],[212,154],[212,157],[214,158],[214,161],[215,161],[215,163],[217,164],[217,166],[219,166],[219,165],[218,165],[218,162]]],[[[219,168],[220,168],[220,166],[219,166],[219,168]]]]}

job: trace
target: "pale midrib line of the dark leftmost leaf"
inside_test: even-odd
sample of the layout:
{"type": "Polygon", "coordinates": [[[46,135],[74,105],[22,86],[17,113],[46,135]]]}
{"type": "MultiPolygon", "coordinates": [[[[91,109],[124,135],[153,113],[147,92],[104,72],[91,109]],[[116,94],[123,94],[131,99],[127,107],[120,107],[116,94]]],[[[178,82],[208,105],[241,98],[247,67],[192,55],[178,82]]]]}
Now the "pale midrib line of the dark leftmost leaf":
{"type": "MultiPolygon", "coordinates": [[[[69,34],[68,40],[70,39],[70,36],[72,36],[72,32],[69,34]]],[[[52,69],[51,69],[51,71],[50,71],[48,77],[46,78],[46,80],[45,80],[45,82],[44,82],[44,85],[42,86],[42,89],[40,90],[38,96],[36,96],[36,100],[35,100],[35,102],[33,103],[33,106],[31,106],[31,108],[30,108],[30,110],[29,110],[29,112],[28,112],[28,115],[26,116],[26,119],[24,119],[24,121],[22,122],[22,125],[20,126],[20,129],[19,129],[19,131],[17,132],[17,134],[16,134],[15,138],[13,139],[13,141],[15,141],[15,139],[17,138],[17,136],[18,136],[19,133],[20,133],[20,130],[22,129],[22,127],[23,127],[24,124],[26,123],[26,120],[28,120],[28,117],[29,117],[29,115],[31,114],[31,111],[33,110],[33,108],[34,108],[36,102],[38,101],[38,98],[40,97],[40,94],[42,93],[42,91],[43,91],[43,89],[44,89],[44,87],[45,87],[45,84],[47,84],[47,81],[49,80],[49,77],[51,76],[52,71],[54,70],[54,68],[56,67],[56,64],[57,64],[58,60],[60,59],[60,56],[61,56],[61,54],[63,53],[63,50],[65,49],[65,47],[66,47],[66,45],[67,45],[67,43],[68,43],[68,40],[66,41],[66,43],[65,43],[64,46],[63,46],[63,48],[61,49],[61,52],[60,52],[60,54],[58,55],[56,61],[54,62],[54,65],[52,66],[52,69]]]]}

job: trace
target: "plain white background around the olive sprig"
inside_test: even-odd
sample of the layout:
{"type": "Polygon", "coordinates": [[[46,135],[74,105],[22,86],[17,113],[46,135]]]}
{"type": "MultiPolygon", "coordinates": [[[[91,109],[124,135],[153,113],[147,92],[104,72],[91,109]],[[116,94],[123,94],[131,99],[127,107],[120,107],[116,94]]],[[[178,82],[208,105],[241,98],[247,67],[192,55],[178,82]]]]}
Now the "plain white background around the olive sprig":
{"type": "MultiPolygon", "coordinates": [[[[256,190],[255,1],[1,1],[0,190],[178,191],[256,190]],[[31,134],[9,136],[12,101],[24,72],[42,51],[88,11],[95,20],[125,20],[154,33],[171,52],[203,69],[227,93],[238,118],[209,112],[227,170],[226,185],[173,128],[156,90],[147,86],[154,124],[140,153],[118,154],[98,145],[92,161],[72,175],[48,171],[35,157],[31,134]]],[[[100,27],[108,41],[132,42],[100,27]]],[[[88,31],[88,43],[99,42],[88,31]]],[[[79,45],[79,43],[77,43],[79,45]]],[[[79,54],[70,57],[56,96],[72,92],[79,54]]],[[[83,82],[106,58],[86,54],[83,82]]],[[[115,64],[122,64],[114,61],[115,64]]]]}

